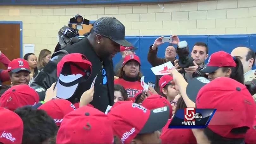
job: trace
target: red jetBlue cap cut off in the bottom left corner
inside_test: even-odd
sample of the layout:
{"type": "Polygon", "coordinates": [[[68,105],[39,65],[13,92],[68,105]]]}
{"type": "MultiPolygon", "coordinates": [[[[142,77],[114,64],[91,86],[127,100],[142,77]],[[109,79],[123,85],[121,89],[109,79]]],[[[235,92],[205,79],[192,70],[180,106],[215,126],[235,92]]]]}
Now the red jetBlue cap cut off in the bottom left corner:
{"type": "Polygon", "coordinates": [[[21,143],[23,136],[22,119],[15,112],[0,107],[0,142],[21,143]]]}

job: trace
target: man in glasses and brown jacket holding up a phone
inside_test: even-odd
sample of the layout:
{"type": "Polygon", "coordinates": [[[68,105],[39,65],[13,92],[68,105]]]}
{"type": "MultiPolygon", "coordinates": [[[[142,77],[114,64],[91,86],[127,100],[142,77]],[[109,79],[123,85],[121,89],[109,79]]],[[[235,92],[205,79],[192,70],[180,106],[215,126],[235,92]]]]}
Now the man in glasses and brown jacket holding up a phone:
{"type": "MultiPolygon", "coordinates": [[[[173,39],[173,41],[170,42],[171,44],[177,45],[178,42],[180,41],[177,35],[173,35],[171,36],[171,38],[173,39]]],[[[172,45],[167,46],[164,53],[165,58],[159,58],[156,56],[158,51],[158,46],[164,43],[162,42],[162,39],[163,39],[163,36],[155,39],[154,44],[149,47],[148,62],[152,65],[152,67],[161,65],[163,63],[167,63],[169,61],[171,61],[174,65],[174,60],[176,59],[176,56],[177,56],[177,52],[174,46],[172,45]]],[[[155,91],[157,93],[160,93],[160,87],[159,87],[158,81],[160,80],[161,77],[162,75],[155,76],[155,91]]]]}

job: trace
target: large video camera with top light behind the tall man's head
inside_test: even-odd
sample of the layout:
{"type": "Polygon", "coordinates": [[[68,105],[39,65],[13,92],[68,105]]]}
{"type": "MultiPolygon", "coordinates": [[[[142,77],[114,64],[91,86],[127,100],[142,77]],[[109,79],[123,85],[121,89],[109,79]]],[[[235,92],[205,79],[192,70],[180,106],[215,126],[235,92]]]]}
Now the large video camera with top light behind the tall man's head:
{"type": "Polygon", "coordinates": [[[75,17],[71,18],[68,26],[63,26],[58,32],[60,45],[60,48],[58,50],[63,49],[66,45],[72,45],[80,41],[81,39],[84,39],[85,36],[81,36],[78,33],[78,30],[82,29],[82,24],[89,25],[89,23],[90,21],[84,19],[81,15],[76,15],[75,17]],[[75,28],[72,27],[72,24],[76,24],[75,28]]]}

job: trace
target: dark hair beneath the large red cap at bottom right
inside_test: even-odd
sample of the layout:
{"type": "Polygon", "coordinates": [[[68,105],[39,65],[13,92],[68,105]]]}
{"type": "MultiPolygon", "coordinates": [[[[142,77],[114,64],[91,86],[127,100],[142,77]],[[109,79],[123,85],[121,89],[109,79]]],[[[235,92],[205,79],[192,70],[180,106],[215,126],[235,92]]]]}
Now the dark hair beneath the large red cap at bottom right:
{"type": "MultiPolygon", "coordinates": [[[[233,134],[244,134],[247,132],[249,128],[247,127],[240,127],[240,128],[235,128],[231,130],[231,133],[233,134]]],[[[243,143],[244,142],[244,138],[225,138],[222,137],[218,134],[216,134],[215,132],[211,131],[208,127],[204,129],[204,134],[207,136],[207,138],[209,139],[209,141],[211,143],[243,143]]]]}

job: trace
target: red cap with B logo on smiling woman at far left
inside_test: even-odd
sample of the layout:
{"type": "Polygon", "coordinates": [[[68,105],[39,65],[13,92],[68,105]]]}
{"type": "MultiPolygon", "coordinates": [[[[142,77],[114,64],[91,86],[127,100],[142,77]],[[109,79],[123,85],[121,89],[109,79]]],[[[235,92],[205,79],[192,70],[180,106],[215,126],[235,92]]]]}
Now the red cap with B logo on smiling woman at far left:
{"type": "Polygon", "coordinates": [[[16,73],[21,70],[27,70],[28,72],[30,72],[28,62],[22,58],[17,58],[17,59],[12,60],[9,63],[7,70],[8,70],[8,72],[12,71],[13,73],[16,73]]]}

